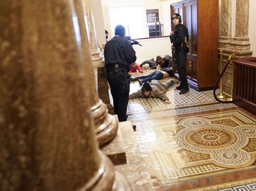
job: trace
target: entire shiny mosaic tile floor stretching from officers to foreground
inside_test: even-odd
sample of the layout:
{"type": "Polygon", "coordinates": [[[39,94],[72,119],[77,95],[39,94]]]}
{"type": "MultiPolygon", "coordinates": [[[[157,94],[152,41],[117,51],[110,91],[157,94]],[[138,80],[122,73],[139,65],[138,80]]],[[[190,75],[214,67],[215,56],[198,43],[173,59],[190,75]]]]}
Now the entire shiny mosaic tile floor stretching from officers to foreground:
{"type": "MultiPolygon", "coordinates": [[[[128,104],[156,190],[256,190],[255,116],[216,102],[212,90],[180,95],[177,85],[167,91],[171,105],[128,104]]],[[[132,82],[131,92],[139,88],[132,82]]]]}

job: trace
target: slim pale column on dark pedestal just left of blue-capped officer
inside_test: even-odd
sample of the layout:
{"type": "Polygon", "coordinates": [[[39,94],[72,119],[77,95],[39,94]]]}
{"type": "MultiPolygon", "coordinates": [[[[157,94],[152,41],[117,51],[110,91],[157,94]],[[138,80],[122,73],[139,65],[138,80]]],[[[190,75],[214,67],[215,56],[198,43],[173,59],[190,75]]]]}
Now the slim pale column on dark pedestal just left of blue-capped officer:
{"type": "MultiPolygon", "coordinates": [[[[100,50],[97,41],[97,35],[94,24],[94,12],[91,4],[91,0],[82,0],[84,3],[84,10],[87,16],[88,31],[89,31],[89,46],[91,49],[91,57],[93,65],[96,71],[97,84],[98,84],[98,95],[100,99],[107,105],[110,114],[114,114],[113,105],[111,105],[111,94],[109,94],[109,85],[106,80],[104,73],[104,55],[100,50]]],[[[102,18],[102,23],[104,19],[102,18]]],[[[104,33],[104,31],[102,31],[104,33]]]]}

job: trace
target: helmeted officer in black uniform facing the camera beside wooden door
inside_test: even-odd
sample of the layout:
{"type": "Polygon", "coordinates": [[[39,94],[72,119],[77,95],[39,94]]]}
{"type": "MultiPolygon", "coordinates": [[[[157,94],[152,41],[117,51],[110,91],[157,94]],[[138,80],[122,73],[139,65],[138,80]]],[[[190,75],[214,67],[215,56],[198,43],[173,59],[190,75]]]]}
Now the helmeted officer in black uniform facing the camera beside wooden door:
{"type": "Polygon", "coordinates": [[[180,14],[173,14],[171,22],[174,24],[175,29],[170,34],[171,48],[175,54],[175,65],[180,77],[180,94],[186,94],[189,91],[188,80],[186,78],[186,54],[188,53],[188,29],[184,24],[181,24],[182,18],[180,14]]]}

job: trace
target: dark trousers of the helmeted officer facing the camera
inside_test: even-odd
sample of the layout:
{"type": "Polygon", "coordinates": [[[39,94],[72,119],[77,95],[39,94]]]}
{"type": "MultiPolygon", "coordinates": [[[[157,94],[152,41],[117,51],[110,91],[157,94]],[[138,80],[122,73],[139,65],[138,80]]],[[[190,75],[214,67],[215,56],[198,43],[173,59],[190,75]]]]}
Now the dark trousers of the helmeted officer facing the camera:
{"type": "Polygon", "coordinates": [[[180,77],[180,86],[188,89],[188,80],[186,78],[186,53],[184,50],[175,52],[177,73],[180,77]]]}

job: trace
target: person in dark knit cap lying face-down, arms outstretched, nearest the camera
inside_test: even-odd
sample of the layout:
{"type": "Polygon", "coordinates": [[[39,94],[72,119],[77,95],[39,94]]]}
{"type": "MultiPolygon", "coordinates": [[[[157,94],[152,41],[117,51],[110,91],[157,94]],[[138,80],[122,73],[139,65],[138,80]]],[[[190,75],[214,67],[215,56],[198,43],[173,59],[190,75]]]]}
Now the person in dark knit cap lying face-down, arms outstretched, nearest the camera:
{"type": "Polygon", "coordinates": [[[129,99],[155,97],[161,99],[166,104],[170,104],[171,102],[165,93],[167,92],[167,89],[175,83],[175,81],[176,80],[170,79],[167,82],[155,82],[155,80],[150,83],[145,82],[141,89],[129,95],[129,99]]]}

